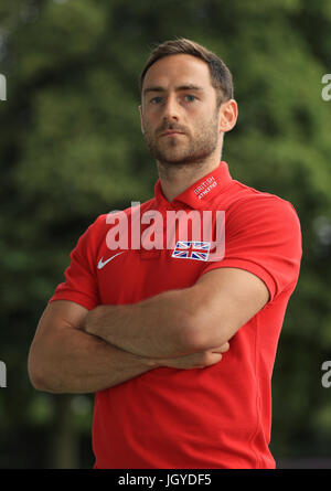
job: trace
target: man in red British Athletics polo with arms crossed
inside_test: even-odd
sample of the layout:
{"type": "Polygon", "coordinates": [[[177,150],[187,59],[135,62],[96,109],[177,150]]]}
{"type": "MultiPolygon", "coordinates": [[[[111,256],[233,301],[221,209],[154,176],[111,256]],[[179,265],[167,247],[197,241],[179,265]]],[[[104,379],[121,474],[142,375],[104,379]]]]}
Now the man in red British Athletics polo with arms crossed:
{"type": "Polygon", "coordinates": [[[128,247],[114,247],[120,214],[100,215],[79,238],[40,320],[31,381],[41,391],[96,393],[95,468],[274,468],[270,378],[299,275],[299,220],[289,202],[233,180],[220,163],[237,105],[216,55],[168,41],[151,53],[140,88],[156,195],[121,212],[128,247]],[[138,212],[220,211],[218,257],[215,221],[201,242],[196,227],[183,238],[177,224],[171,248],[167,220],[154,228],[163,247],[143,247],[152,234],[141,221],[137,246],[138,212]]]}

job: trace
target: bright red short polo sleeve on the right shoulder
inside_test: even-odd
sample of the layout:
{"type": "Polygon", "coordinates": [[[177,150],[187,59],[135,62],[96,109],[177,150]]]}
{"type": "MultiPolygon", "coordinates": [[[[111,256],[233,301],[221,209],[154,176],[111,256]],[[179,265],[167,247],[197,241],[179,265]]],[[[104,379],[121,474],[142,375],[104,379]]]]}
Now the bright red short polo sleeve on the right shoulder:
{"type": "Polygon", "coordinates": [[[225,212],[224,257],[203,273],[245,269],[266,284],[273,301],[285,289],[295,288],[301,256],[301,227],[293,206],[273,194],[253,195],[225,212]]]}

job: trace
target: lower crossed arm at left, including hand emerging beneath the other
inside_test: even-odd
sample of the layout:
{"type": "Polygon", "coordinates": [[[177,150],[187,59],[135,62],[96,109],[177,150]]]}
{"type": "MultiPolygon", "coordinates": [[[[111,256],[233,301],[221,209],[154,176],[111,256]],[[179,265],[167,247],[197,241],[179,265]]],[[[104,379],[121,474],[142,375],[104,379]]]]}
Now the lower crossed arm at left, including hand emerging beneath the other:
{"type": "Polygon", "coordinates": [[[154,359],[114,346],[82,330],[88,310],[67,300],[51,302],[30,348],[33,386],[51,393],[94,393],[167,366],[190,370],[218,363],[228,344],[186,356],[154,359]]]}

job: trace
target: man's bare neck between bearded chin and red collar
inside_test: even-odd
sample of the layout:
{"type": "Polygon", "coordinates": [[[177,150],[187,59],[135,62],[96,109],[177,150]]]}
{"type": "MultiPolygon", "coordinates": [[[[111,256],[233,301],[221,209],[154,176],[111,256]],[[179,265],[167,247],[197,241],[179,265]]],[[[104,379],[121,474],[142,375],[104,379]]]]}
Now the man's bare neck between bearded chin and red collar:
{"type": "Polygon", "coordinates": [[[220,166],[221,159],[190,163],[157,162],[161,188],[168,201],[174,200],[194,182],[212,172],[220,166]]]}

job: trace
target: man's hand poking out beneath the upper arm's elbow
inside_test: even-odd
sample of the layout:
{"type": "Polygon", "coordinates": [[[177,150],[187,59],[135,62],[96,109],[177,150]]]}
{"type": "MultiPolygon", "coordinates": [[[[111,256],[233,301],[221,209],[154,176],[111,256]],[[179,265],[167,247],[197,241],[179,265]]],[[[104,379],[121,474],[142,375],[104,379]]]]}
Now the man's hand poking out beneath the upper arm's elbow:
{"type": "Polygon", "coordinates": [[[222,360],[223,353],[228,351],[229,344],[226,342],[220,348],[211,348],[199,353],[186,354],[185,356],[170,357],[158,360],[158,366],[167,366],[170,369],[205,369],[214,365],[222,360]]]}

